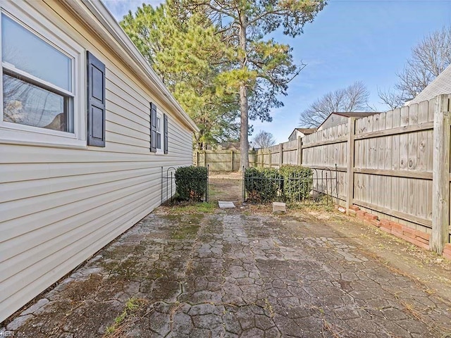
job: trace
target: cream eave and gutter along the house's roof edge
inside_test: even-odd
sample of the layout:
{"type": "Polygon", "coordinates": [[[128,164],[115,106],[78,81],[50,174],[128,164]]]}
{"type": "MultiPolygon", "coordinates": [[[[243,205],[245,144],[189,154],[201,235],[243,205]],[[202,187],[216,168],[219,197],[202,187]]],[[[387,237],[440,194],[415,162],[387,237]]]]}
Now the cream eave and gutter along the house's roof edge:
{"type": "Polygon", "coordinates": [[[199,128],[174,99],[166,86],[156,75],[152,67],[133,44],[132,40],[123,31],[111,12],[101,1],[95,0],[63,0],[66,7],[75,12],[88,27],[91,27],[101,39],[128,64],[133,72],[147,84],[164,104],[178,113],[178,117],[194,132],[199,128]],[[93,16],[94,15],[94,16],[93,16]],[[96,20],[97,19],[97,20],[96,20]],[[99,24],[100,23],[100,24],[99,24]]]}

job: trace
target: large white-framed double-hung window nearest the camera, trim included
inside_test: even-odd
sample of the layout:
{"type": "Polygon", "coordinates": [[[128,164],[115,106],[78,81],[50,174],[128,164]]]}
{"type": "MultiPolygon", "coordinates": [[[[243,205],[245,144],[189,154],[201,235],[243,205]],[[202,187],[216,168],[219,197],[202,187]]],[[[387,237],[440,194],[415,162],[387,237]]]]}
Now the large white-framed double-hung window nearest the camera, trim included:
{"type": "Polygon", "coordinates": [[[0,20],[1,141],[85,146],[83,49],[26,4],[0,20]]]}

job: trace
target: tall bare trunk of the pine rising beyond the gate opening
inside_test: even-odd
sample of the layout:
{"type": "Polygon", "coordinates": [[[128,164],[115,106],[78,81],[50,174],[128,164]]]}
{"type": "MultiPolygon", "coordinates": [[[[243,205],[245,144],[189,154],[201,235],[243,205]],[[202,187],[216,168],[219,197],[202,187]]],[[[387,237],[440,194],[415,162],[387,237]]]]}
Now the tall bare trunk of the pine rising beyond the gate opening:
{"type": "MultiPolygon", "coordinates": [[[[240,13],[240,48],[243,51],[243,58],[241,61],[241,68],[247,67],[247,18],[246,10],[242,8],[240,13]]],[[[242,168],[249,168],[249,104],[247,101],[247,83],[240,84],[240,113],[241,113],[241,127],[240,127],[240,170],[242,168]]]]}

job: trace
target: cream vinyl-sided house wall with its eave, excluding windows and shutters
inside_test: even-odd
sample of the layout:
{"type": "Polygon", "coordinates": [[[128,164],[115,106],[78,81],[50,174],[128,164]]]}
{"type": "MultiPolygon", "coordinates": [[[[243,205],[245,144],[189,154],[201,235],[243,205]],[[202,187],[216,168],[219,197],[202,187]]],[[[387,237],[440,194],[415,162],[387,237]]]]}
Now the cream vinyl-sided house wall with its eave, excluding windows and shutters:
{"type": "Polygon", "coordinates": [[[0,322],[159,206],[161,167],[192,161],[192,127],[68,8],[17,6],[106,65],[106,146],[44,146],[0,130],[0,322]],[[168,115],[166,155],[149,151],[150,101],[168,115]]]}

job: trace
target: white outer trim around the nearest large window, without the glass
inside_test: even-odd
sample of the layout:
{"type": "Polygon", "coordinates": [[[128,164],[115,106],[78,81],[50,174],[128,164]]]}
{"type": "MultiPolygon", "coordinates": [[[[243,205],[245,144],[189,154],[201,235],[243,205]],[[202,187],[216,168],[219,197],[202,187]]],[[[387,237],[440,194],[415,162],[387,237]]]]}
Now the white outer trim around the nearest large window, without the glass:
{"type": "MultiPolygon", "coordinates": [[[[0,143],[30,144],[63,148],[87,148],[85,113],[85,49],[42,13],[25,2],[1,1],[1,13],[16,20],[27,30],[73,59],[73,133],[49,130],[3,120],[3,74],[0,76],[0,143]]],[[[0,18],[1,21],[1,18],[0,18]]],[[[1,37],[1,25],[0,25],[1,37]]],[[[1,46],[1,44],[0,44],[1,46]]],[[[1,53],[0,53],[1,58],[1,53]]],[[[8,64],[5,63],[6,68],[8,64]]],[[[3,72],[3,71],[2,71],[3,72]]],[[[15,70],[17,73],[17,70],[15,70]]],[[[44,82],[40,80],[40,82],[44,82]]]]}

